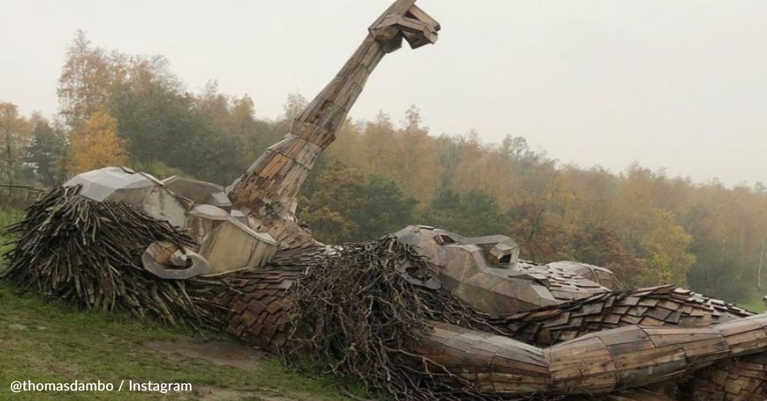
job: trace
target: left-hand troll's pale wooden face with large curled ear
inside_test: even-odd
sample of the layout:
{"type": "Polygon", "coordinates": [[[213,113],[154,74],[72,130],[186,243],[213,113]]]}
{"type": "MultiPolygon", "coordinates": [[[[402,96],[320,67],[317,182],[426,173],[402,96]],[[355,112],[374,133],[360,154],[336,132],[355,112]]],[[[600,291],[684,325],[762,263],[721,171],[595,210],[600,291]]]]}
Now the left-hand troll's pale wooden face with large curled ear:
{"type": "Polygon", "coordinates": [[[245,214],[232,210],[223,188],[216,184],[175,176],[159,181],[128,168],[107,167],[79,174],[64,184],[75,185],[81,185],[81,196],[93,201],[121,202],[178,230],[188,230],[199,249],[176,253],[177,247],[164,243],[146,249],[144,266],[163,279],[265,266],[277,249],[272,236],[256,232],[245,214]]]}

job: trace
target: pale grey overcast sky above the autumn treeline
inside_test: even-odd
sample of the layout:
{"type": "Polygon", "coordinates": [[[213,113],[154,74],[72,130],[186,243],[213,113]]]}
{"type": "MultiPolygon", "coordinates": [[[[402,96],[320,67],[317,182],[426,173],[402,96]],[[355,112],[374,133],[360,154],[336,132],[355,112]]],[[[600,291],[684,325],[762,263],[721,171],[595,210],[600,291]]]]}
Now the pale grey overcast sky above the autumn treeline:
{"type": "MultiPolygon", "coordinates": [[[[392,0],[5,0],[0,99],[56,109],[77,28],[94,44],[163,54],[189,89],[219,80],[261,116],[311,99],[392,0]]],[[[420,0],[439,43],[390,54],[352,111],[433,134],[522,135],[558,160],[632,161],[698,181],[767,182],[764,0],[420,0]]]]}

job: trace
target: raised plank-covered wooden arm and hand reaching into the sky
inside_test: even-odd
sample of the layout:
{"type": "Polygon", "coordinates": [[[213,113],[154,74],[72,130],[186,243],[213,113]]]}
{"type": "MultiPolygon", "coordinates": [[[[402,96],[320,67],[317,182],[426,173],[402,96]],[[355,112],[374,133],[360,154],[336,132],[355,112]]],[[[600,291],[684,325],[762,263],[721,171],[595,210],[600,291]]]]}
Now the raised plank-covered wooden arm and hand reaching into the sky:
{"type": "Polygon", "coordinates": [[[235,207],[259,220],[295,220],[301,184],[314,161],[335,140],[380,60],[399,49],[403,40],[413,48],[436,43],[439,23],[415,3],[397,0],[370,26],[354,55],[295,119],[288,135],[228,188],[235,207]]]}

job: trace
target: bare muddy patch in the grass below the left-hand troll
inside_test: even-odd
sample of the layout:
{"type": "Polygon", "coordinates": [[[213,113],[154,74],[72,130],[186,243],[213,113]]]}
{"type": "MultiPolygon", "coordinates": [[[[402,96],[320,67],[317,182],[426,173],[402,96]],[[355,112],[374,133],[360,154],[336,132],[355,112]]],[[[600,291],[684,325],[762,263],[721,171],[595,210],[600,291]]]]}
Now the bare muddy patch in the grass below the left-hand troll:
{"type": "Polygon", "coordinates": [[[228,341],[197,342],[186,339],[174,341],[150,341],[144,343],[152,350],[175,354],[189,358],[209,360],[216,365],[251,369],[258,366],[258,361],[265,357],[262,351],[247,345],[228,341]]]}

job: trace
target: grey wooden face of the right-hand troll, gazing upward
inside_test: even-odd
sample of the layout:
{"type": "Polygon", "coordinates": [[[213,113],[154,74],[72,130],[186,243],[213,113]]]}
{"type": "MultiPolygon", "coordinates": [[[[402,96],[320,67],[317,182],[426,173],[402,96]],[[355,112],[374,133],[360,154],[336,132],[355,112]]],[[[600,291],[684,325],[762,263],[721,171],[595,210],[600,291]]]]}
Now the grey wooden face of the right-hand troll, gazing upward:
{"type": "Polygon", "coordinates": [[[426,256],[440,285],[479,311],[508,315],[607,291],[568,269],[519,261],[508,236],[465,237],[426,226],[396,235],[426,256]]]}

